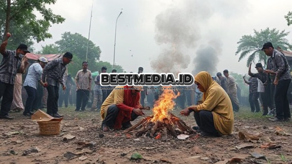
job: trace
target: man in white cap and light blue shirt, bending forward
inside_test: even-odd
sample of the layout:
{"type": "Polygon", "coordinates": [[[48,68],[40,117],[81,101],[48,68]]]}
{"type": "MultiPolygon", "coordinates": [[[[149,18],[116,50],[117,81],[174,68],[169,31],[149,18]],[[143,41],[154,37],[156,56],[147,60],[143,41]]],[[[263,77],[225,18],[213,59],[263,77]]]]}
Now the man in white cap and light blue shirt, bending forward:
{"type": "Polygon", "coordinates": [[[30,117],[33,114],[31,111],[33,104],[36,103],[36,89],[38,82],[44,86],[44,83],[41,81],[41,74],[43,73],[43,69],[47,63],[48,60],[45,57],[39,57],[39,61],[32,64],[28,68],[28,72],[23,83],[28,95],[25,103],[25,110],[23,112],[24,116],[30,117]]]}

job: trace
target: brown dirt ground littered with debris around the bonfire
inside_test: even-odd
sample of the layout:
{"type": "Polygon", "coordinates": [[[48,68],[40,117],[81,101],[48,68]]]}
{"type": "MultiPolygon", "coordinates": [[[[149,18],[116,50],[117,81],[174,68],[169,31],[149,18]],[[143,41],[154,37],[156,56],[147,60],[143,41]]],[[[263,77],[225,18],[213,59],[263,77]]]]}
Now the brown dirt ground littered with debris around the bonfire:
{"type": "MultiPolygon", "coordinates": [[[[137,138],[121,131],[103,133],[99,112],[75,112],[74,107],[59,111],[65,117],[61,122],[61,134],[56,136],[40,136],[37,123],[22,117],[21,113],[11,113],[16,117],[14,120],[0,120],[0,164],[225,164],[233,157],[241,163],[292,163],[292,139],[286,136],[292,134],[292,122],[272,123],[267,117],[253,114],[247,108],[241,108],[235,114],[232,135],[217,138],[192,135],[185,140],[137,138]],[[275,133],[277,130],[280,135],[275,133]],[[258,135],[260,139],[252,142],[239,140],[239,131],[258,135]],[[63,141],[68,134],[76,137],[63,141]],[[265,148],[269,143],[279,148],[265,148]],[[239,149],[241,144],[248,144],[249,147],[239,149]],[[133,153],[141,154],[142,159],[131,160],[133,153]]],[[[151,111],[145,113],[151,115],[151,111]]],[[[179,116],[179,110],[172,113],[179,116]]],[[[187,125],[195,125],[192,116],[179,117],[187,125]]]]}

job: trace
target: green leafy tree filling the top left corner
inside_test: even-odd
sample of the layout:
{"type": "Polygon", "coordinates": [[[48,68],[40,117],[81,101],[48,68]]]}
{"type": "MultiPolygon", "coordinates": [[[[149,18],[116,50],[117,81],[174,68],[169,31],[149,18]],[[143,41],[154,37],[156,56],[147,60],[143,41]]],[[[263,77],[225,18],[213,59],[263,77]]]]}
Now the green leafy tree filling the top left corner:
{"type": "Polygon", "coordinates": [[[10,32],[11,40],[8,48],[15,49],[19,43],[28,46],[33,40],[44,41],[51,38],[48,28],[51,24],[65,21],[60,15],[55,15],[47,4],[55,4],[56,0],[0,0],[0,38],[6,39],[10,32]],[[35,11],[42,15],[36,19],[35,11]]]}

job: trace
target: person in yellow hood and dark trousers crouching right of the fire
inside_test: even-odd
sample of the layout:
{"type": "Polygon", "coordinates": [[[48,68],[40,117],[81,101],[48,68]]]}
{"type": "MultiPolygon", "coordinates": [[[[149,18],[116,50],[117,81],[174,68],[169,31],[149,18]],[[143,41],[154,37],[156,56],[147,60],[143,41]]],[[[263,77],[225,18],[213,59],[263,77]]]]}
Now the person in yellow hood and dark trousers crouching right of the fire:
{"type": "Polygon", "coordinates": [[[181,111],[181,114],[189,116],[192,111],[195,112],[194,117],[199,127],[194,129],[199,129],[201,136],[231,134],[234,117],[232,103],[225,90],[205,71],[195,76],[195,83],[204,93],[202,104],[190,106],[181,111]]]}

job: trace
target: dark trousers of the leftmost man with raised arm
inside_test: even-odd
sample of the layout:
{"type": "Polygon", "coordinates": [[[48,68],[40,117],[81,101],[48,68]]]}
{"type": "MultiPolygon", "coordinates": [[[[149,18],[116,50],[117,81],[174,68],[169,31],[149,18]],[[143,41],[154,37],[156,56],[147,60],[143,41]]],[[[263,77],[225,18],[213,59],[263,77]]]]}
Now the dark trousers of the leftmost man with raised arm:
{"type": "Polygon", "coordinates": [[[3,83],[0,81],[0,99],[2,97],[0,115],[5,116],[9,113],[13,101],[13,84],[3,83]]]}

